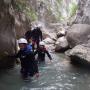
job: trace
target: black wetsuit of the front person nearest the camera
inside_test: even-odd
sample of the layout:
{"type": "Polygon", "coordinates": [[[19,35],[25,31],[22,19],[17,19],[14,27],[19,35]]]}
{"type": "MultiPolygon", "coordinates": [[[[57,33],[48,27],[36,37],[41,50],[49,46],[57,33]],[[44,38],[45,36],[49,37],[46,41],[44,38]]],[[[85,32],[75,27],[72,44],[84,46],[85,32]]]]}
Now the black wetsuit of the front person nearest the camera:
{"type": "Polygon", "coordinates": [[[23,77],[27,77],[28,75],[33,76],[35,73],[38,73],[38,66],[33,52],[29,50],[20,50],[16,57],[20,58],[23,77]]]}

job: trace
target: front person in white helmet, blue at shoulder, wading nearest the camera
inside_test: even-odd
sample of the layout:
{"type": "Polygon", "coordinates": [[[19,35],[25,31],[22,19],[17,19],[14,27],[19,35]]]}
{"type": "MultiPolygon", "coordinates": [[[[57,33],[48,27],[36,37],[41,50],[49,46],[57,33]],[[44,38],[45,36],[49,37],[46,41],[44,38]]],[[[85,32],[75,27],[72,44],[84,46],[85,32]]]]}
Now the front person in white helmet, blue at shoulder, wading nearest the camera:
{"type": "Polygon", "coordinates": [[[16,55],[17,58],[20,58],[21,61],[21,73],[23,78],[28,76],[39,76],[38,66],[34,58],[34,54],[31,50],[31,47],[28,47],[28,42],[26,39],[21,38],[18,40],[20,50],[16,55]]]}

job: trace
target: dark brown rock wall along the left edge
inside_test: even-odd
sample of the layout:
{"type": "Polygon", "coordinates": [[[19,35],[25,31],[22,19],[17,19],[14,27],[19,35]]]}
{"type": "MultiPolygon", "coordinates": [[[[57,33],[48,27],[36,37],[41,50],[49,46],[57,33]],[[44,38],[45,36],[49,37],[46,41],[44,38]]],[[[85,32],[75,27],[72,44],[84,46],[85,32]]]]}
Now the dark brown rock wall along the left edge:
{"type": "Polygon", "coordinates": [[[0,68],[10,67],[14,60],[7,55],[15,53],[16,40],[11,0],[0,0],[0,68]]]}

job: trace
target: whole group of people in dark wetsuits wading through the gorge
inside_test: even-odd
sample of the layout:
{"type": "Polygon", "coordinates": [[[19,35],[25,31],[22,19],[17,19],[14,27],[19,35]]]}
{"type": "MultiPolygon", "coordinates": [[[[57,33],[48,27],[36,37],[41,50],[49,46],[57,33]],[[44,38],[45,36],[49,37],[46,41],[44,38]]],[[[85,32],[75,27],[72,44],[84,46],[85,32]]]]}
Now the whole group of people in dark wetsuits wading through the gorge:
{"type": "Polygon", "coordinates": [[[52,60],[42,40],[42,31],[38,26],[33,30],[27,31],[25,33],[25,38],[20,38],[18,40],[20,50],[15,57],[19,58],[21,61],[20,72],[24,79],[27,79],[29,76],[39,77],[38,63],[45,62],[46,54],[49,59],[52,60]],[[35,57],[36,55],[37,58],[35,57]]]}

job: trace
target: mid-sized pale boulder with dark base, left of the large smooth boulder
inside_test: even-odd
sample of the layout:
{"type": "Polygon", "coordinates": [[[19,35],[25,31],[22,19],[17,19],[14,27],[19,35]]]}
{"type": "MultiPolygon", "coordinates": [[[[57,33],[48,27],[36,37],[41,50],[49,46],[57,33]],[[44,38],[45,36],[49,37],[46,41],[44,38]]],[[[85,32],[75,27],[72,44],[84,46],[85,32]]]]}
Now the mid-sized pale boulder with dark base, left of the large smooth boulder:
{"type": "Polygon", "coordinates": [[[68,48],[68,42],[66,37],[60,37],[55,43],[55,51],[65,51],[68,48]]]}

